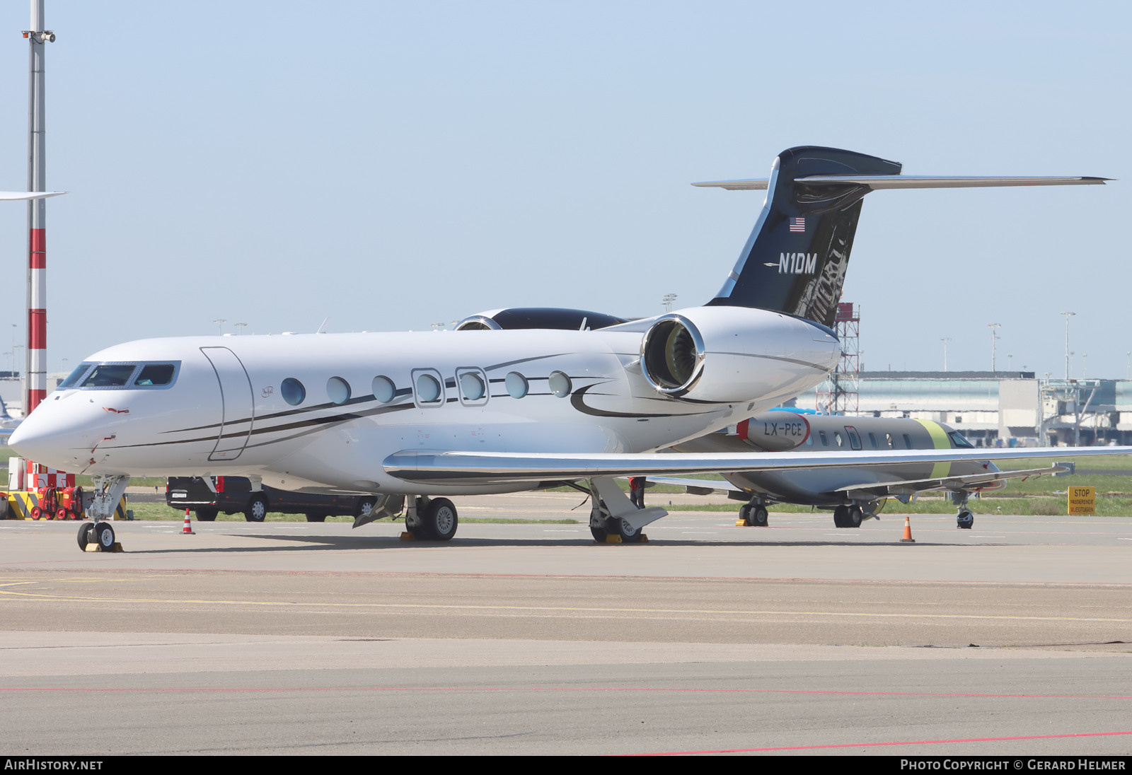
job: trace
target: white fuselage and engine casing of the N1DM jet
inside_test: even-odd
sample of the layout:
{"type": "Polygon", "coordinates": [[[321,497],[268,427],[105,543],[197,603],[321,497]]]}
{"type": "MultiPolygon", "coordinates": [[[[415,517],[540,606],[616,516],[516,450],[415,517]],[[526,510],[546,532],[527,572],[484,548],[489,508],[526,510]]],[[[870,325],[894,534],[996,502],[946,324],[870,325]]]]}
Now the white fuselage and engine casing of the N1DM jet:
{"type": "Polygon", "coordinates": [[[727,330],[709,343],[701,378],[722,386],[713,389],[723,401],[662,395],[645,380],[649,321],[143,339],[87,359],[12,445],[87,474],[249,475],[289,490],[414,494],[528,489],[409,484],[381,463],[406,450],[649,451],[812,387],[839,354],[827,329],[790,316],[691,313],[704,330],[712,320],[727,330]]]}

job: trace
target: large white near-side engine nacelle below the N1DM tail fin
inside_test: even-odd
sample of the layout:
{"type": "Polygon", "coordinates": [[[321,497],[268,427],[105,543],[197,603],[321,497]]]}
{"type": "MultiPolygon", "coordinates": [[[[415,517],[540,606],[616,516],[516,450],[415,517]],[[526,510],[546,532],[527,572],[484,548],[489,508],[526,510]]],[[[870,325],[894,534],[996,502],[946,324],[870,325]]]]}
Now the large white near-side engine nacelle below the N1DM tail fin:
{"type": "Polygon", "coordinates": [[[841,347],[809,320],[745,307],[695,307],[657,318],[641,339],[641,370],[660,394],[738,404],[796,395],[833,370],[841,347]],[[797,387],[797,390],[790,393],[797,387]]]}

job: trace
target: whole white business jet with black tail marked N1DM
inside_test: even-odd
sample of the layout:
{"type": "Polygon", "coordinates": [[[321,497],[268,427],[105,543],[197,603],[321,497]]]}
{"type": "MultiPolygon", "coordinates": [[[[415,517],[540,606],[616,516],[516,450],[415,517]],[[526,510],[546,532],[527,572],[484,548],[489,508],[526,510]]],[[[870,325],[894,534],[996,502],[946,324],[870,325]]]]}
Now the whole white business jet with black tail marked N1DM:
{"type": "MultiPolygon", "coordinates": [[[[94,476],[84,548],[113,544],[103,518],[131,475],[221,474],[248,476],[254,489],[408,498],[408,529],[440,541],[457,525],[445,496],[588,481],[594,537],[636,541],[666,511],[633,507],[615,476],[847,465],[835,453],[653,453],[774,406],[833,370],[841,352],[830,326],[866,193],[1104,182],[900,171],[874,156],[797,147],[779,154],[769,180],[701,183],[767,190],[735,269],[703,307],[624,322],[594,316],[592,325],[578,312],[573,330],[521,315],[505,327],[503,311],[443,334],[142,339],[79,364],[11,445],[94,476]]],[[[1066,453],[884,450],[858,460],[1066,453]]]]}

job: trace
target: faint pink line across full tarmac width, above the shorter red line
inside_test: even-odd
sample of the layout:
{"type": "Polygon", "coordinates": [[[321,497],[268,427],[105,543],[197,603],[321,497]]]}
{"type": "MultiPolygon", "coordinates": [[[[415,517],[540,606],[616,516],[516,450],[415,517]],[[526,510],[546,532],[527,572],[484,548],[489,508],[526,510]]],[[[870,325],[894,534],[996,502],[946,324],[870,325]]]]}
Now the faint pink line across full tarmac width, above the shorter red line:
{"type": "MultiPolygon", "coordinates": [[[[719,695],[823,695],[842,697],[980,697],[987,699],[1132,699],[1130,695],[992,695],[974,692],[950,692],[950,691],[839,691],[832,689],[667,689],[659,687],[631,688],[631,687],[276,687],[276,688],[199,688],[199,687],[166,687],[166,688],[74,688],[74,687],[0,687],[0,691],[117,691],[144,694],[153,692],[185,692],[185,694],[209,694],[222,691],[240,692],[268,692],[280,694],[314,692],[314,691],[404,691],[404,692],[453,692],[453,694],[504,694],[504,692],[592,692],[592,691],[620,691],[631,692],[664,692],[664,694],[719,694],[719,695]]],[[[1124,732],[1105,732],[1105,734],[1124,734],[1124,732]]],[[[869,743],[873,744],[873,743],[869,743]]]]}

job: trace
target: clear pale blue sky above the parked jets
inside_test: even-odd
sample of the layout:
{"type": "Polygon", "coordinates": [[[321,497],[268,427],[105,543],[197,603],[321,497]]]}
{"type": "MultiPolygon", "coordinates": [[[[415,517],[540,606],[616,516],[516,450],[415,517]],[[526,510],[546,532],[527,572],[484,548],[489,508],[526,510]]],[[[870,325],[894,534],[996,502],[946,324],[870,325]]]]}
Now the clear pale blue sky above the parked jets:
{"type": "MultiPolygon", "coordinates": [[[[49,368],[132,338],[421,329],[710,299],[789,146],[1107,187],[869,195],[867,369],[1124,377],[1123,2],[46,0],[49,368]]],[[[0,8],[0,188],[26,184],[27,2],[0,8]],[[6,43],[3,41],[7,41],[6,43]]],[[[0,343],[25,208],[0,208],[0,343]]],[[[0,369],[7,368],[7,359],[0,369]]]]}

